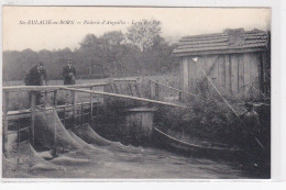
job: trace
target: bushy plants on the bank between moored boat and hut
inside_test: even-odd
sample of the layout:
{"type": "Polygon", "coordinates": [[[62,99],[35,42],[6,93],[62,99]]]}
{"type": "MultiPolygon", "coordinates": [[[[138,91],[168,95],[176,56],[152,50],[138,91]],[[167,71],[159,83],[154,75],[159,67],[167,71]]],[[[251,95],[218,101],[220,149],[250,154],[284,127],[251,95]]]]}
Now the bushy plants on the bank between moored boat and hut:
{"type": "MultiPolygon", "coordinates": [[[[215,91],[197,90],[198,97],[189,97],[189,109],[160,108],[155,123],[165,131],[185,133],[193,138],[226,144],[237,144],[242,123],[215,91]]],[[[227,97],[240,115],[243,104],[227,97]]]]}

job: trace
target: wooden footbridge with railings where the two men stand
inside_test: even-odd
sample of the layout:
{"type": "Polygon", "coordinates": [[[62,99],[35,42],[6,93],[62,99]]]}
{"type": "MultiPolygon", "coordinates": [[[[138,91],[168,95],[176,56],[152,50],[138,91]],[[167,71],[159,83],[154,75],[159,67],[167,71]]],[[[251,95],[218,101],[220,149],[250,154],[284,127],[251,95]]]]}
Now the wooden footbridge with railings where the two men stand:
{"type": "MultiPolygon", "coordinates": [[[[74,85],[74,86],[14,86],[3,87],[3,150],[7,138],[12,133],[18,133],[18,147],[20,143],[26,141],[34,146],[35,141],[35,115],[37,111],[48,111],[55,109],[58,113],[62,113],[59,119],[65,125],[67,121],[72,121],[72,130],[82,126],[95,120],[98,115],[97,105],[105,104],[107,98],[119,98],[140,102],[146,102],[150,104],[160,104],[166,107],[174,107],[178,109],[186,109],[180,103],[183,96],[194,96],[189,92],[160,83],[154,80],[148,80],[144,86],[140,80],[109,80],[100,83],[89,85],[74,85]],[[101,88],[102,90],[95,90],[101,88]],[[145,89],[145,91],[144,91],[145,89]],[[165,91],[164,91],[165,90],[165,91]],[[30,108],[22,110],[10,110],[9,102],[13,97],[12,93],[19,93],[20,91],[26,91],[31,94],[30,108]],[[72,102],[67,104],[58,104],[58,93],[61,91],[69,92],[72,94],[72,102]],[[172,91],[166,96],[166,91],[172,91]],[[43,94],[44,103],[36,105],[36,96],[43,94]],[[89,101],[80,101],[77,98],[77,93],[85,93],[89,96],[89,101]],[[53,101],[46,103],[47,97],[52,97],[53,101]],[[172,98],[170,98],[172,97],[172,98]],[[101,100],[100,100],[101,98],[101,100]],[[19,118],[29,118],[30,125],[21,127],[21,124],[16,124],[16,128],[9,131],[9,121],[18,120],[19,118]],[[77,122],[79,121],[79,122],[77,122]],[[29,139],[20,141],[20,132],[28,131],[29,139]],[[10,133],[9,133],[10,132],[10,133]]],[[[22,100],[23,101],[23,100],[22,100]]],[[[28,101],[28,100],[24,100],[28,101]]]]}

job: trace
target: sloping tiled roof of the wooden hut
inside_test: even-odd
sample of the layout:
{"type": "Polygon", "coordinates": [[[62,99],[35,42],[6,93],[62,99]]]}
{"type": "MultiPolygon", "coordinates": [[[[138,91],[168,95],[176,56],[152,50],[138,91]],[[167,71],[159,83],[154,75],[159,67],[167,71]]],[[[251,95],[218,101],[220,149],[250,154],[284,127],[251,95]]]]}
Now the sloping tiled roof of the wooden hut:
{"type": "Polygon", "coordinates": [[[232,54],[266,51],[270,33],[254,29],[224,30],[223,33],[185,36],[173,51],[177,56],[232,54]]]}

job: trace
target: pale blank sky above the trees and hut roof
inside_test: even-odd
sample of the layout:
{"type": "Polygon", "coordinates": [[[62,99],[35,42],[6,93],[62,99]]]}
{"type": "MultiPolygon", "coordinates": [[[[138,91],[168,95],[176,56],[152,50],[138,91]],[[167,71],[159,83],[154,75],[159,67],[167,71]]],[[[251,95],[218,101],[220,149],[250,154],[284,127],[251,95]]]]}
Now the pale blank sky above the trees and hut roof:
{"type": "Polygon", "coordinates": [[[170,43],[224,29],[271,29],[271,9],[262,8],[3,7],[3,51],[74,49],[87,34],[125,33],[142,19],[161,21],[161,35],[170,43]]]}

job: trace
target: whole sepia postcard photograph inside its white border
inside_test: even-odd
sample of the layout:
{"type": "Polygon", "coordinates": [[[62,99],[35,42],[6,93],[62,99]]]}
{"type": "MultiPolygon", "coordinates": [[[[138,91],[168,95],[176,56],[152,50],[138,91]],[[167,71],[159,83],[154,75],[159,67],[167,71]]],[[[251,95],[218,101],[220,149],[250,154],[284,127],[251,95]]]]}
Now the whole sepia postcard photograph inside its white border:
{"type": "Polygon", "coordinates": [[[2,7],[2,179],[271,179],[271,8],[2,7]]]}

